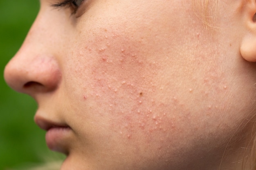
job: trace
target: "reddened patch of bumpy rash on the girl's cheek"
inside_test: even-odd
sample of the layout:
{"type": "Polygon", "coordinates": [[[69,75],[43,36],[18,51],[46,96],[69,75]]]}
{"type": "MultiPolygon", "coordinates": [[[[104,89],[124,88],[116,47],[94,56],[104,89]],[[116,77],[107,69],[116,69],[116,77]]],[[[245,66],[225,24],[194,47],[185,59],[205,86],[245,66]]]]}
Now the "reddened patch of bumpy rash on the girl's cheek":
{"type": "Polygon", "coordinates": [[[148,55],[150,51],[143,51],[144,40],[104,30],[92,42],[87,46],[91,57],[86,69],[91,83],[88,98],[100,106],[94,114],[106,117],[110,130],[128,139],[138,135],[137,130],[144,134],[166,131],[167,123],[170,126],[167,106],[155,98],[161,67],[148,55]],[[159,109],[159,105],[165,106],[159,109]]]}

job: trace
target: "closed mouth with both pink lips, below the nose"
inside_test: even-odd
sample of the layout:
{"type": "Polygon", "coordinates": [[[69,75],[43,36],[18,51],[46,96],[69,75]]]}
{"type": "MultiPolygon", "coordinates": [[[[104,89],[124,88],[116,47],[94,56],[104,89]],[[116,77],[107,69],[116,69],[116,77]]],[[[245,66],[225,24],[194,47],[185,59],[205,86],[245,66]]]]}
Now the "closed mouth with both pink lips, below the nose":
{"type": "Polygon", "coordinates": [[[36,119],[36,124],[47,131],[45,140],[50,150],[68,154],[72,129],[65,123],[55,123],[45,119],[36,119]]]}

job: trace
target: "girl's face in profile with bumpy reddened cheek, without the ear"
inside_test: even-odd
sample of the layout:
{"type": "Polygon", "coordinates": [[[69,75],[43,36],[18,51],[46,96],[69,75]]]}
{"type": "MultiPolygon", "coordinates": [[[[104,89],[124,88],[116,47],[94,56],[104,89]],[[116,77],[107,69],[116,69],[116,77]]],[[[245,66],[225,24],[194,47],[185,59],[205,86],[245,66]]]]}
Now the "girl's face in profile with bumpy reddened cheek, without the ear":
{"type": "Polygon", "coordinates": [[[240,0],[67,1],[41,0],[4,72],[38,102],[47,145],[67,154],[62,170],[216,169],[241,158],[256,67],[239,52],[240,0]],[[222,159],[229,148],[234,158],[222,159]]]}

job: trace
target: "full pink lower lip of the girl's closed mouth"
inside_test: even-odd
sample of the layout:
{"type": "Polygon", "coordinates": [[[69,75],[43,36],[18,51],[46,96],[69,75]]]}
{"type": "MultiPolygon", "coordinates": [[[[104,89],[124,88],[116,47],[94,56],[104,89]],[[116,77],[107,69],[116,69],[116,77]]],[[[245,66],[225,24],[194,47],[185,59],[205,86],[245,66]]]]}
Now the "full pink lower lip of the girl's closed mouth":
{"type": "Polygon", "coordinates": [[[50,128],[46,135],[46,144],[50,150],[65,153],[67,152],[67,138],[71,129],[69,127],[50,128]]]}

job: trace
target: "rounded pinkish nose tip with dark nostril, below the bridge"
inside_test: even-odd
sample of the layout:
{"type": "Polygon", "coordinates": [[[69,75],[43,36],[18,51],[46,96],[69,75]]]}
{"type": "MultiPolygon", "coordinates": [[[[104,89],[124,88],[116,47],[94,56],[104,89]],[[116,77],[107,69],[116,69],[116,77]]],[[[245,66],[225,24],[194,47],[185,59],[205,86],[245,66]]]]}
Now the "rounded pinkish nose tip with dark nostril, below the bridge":
{"type": "Polygon", "coordinates": [[[16,55],[4,69],[4,79],[14,90],[34,96],[54,90],[60,81],[58,63],[50,56],[16,55]]]}

